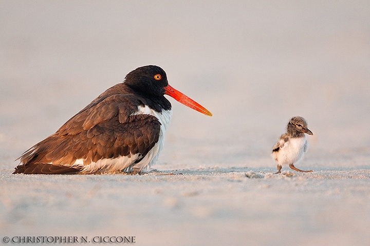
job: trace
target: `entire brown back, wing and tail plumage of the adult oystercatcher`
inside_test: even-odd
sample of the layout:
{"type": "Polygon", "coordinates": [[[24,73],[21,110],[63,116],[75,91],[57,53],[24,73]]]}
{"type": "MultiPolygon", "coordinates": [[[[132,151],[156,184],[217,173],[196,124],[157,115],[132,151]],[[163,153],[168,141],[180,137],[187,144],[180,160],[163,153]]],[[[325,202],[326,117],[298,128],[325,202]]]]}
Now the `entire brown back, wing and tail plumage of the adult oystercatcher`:
{"type": "Polygon", "coordinates": [[[76,170],[68,168],[77,159],[88,165],[130,153],[145,156],[159,139],[160,122],[152,115],[131,115],[141,104],[132,95],[112,95],[95,102],[25,152],[14,173],[72,173],[76,170]]]}

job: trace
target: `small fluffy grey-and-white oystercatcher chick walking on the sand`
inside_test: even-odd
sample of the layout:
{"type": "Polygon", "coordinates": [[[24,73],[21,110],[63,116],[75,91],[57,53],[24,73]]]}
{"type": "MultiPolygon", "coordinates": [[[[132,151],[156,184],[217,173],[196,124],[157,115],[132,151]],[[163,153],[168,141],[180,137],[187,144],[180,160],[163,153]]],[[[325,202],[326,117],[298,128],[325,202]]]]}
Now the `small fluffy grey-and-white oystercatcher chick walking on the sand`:
{"type": "Polygon", "coordinates": [[[308,148],[305,133],[313,135],[307,128],[307,121],[304,118],[297,116],[289,120],[287,132],[281,135],[272,147],[272,157],[278,162],[276,173],[281,173],[284,164],[288,164],[292,170],[297,172],[312,172],[312,170],[303,171],[294,167],[294,162],[299,161],[308,148]]]}

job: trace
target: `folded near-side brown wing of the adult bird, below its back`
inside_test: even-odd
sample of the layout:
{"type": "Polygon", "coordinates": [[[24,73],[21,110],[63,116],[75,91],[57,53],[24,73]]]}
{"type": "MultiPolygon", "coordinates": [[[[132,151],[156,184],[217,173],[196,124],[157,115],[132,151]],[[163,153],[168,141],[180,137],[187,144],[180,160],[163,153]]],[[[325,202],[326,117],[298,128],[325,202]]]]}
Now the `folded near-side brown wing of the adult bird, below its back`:
{"type": "MultiPolygon", "coordinates": [[[[158,142],[160,125],[152,115],[132,115],[123,124],[117,116],[77,135],[54,134],[22,155],[20,166],[52,163],[70,167],[77,159],[84,159],[84,165],[88,165],[99,159],[128,154],[139,153],[144,157],[158,142]]],[[[17,169],[22,170],[20,166],[17,169]]]]}

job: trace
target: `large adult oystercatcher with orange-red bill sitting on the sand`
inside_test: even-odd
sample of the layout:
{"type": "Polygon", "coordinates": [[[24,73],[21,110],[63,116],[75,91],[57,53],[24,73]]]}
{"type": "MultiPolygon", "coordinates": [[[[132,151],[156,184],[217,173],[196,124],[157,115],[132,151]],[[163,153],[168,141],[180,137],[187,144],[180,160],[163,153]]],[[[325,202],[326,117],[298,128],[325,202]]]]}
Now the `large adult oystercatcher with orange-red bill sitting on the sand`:
{"type": "Polygon", "coordinates": [[[140,67],[23,153],[13,174],[141,173],[158,159],[171,121],[164,94],[212,116],[172,88],[163,69],[140,67]]]}

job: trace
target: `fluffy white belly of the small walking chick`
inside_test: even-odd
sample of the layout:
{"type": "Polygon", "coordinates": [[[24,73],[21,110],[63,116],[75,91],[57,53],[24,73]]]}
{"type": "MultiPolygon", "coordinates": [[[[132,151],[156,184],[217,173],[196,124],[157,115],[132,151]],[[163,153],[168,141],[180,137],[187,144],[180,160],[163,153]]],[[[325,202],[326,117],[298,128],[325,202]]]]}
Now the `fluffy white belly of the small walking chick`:
{"type": "Polygon", "coordinates": [[[299,161],[304,154],[304,146],[307,145],[306,137],[290,138],[285,142],[279,152],[276,152],[276,159],[279,165],[292,164],[299,161]]]}

